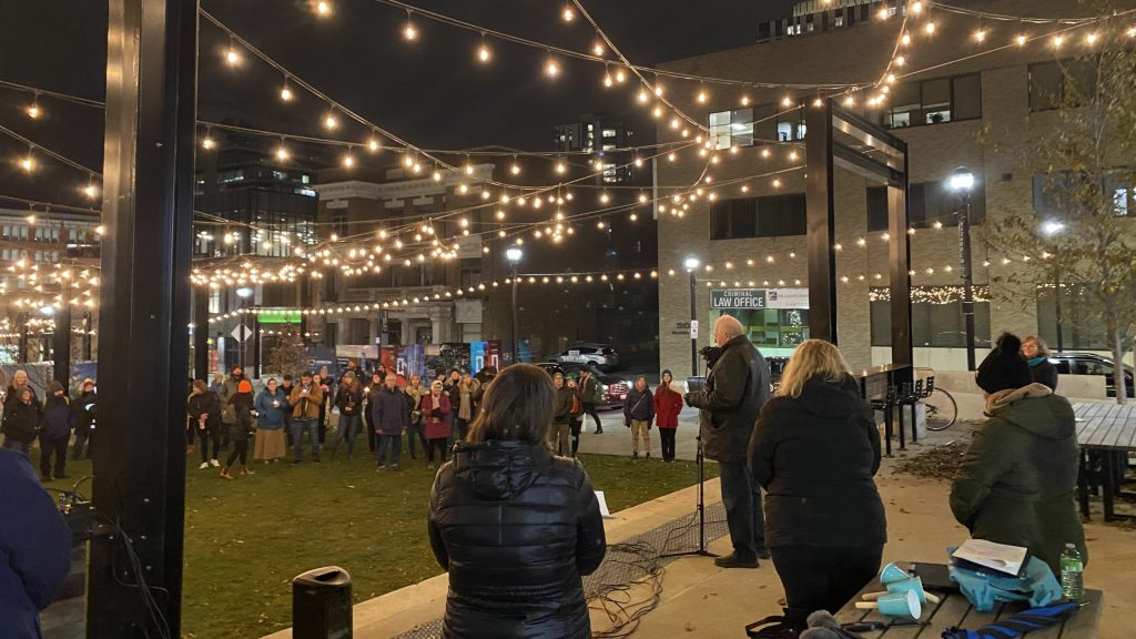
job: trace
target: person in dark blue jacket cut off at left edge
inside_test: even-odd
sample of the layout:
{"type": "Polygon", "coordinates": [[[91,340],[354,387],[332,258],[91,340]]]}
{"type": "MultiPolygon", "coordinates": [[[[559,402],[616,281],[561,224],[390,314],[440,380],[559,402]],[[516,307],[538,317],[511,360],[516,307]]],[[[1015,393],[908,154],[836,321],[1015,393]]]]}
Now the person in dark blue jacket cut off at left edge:
{"type": "Polygon", "coordinates": [[[0,636],[41,639],[40,611],[70,570],[70,528],[24,454],[0,449],[0,636]]]}

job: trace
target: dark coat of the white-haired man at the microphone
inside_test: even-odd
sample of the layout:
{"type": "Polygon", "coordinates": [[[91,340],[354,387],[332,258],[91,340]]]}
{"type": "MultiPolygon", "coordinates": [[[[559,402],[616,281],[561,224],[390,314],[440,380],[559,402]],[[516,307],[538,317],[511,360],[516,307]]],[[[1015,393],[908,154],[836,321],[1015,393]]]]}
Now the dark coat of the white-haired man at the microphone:
{"type": "Polygon", "coordinates": [[[685,399],[702,409],[699,425],[707,458],[744,462],[753,423],[769,400],[769,365],[749,338],[738,335],[722,347],[705,389],[685,399]]]}

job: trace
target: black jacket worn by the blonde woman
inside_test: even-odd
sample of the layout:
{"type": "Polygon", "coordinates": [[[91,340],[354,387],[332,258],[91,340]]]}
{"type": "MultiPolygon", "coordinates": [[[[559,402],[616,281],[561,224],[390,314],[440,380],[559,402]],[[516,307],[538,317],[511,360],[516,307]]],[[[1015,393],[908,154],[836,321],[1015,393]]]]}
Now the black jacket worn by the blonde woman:
{"type": "Polygon", "coordinates": [[[887,541],[879,431],[850,375],[775,397],[750,439],[750,465],[766,497],[766,545],[866,548],[887,541]]]}

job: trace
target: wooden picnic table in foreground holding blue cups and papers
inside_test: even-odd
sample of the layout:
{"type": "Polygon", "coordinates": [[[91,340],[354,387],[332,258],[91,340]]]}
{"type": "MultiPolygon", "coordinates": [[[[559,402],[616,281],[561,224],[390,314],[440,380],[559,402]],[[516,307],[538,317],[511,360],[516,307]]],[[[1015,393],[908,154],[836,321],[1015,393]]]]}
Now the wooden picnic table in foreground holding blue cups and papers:
{"type": "MultiPolygon", "coordinates": [[[[900,564],[904,565],[904,564],[900,564]]],[[[891,617],[879,614],[879,611],[861,611],[855,607],[855,603],[861,600],[861,596],[868,592],[883,590],[879,582],[872,580],[863,587],[855,599],[849,601],[836,613],[836,621],[841,623],[860,623],[878,621],[888,623],[891,617]]],[[[924,604],[920,621],[929,622],[927,625],[897,625],[883,631],[859,632],[864,639],[938,639],[943,631],[949,628],[966,628],[978,630],[979,628],[997,621],[1002,616],[1019,613],[1029,606],[1027,604],[995,604],[994,611],[979,613],[974,609],[970,601],[962,596],[959,590],[932,590],[942,598],[938,604],[924,604]]],[[[1045,630],[1037,630],[1026,634],[1026,639],[1091,639],[1096,637],[1096,629],[1101,624],[1101,609],[1104,606],[1104,595],[1100,590],[1085,590],[1085,601],[1087,603],[1069,620],[1045,630]]]]}

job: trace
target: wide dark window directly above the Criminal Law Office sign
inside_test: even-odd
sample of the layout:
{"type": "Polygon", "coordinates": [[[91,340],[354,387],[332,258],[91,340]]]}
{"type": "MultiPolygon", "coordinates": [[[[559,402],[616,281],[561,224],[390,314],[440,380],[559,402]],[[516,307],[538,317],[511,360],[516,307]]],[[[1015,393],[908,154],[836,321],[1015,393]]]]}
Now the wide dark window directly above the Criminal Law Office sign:
{"type": "Polygon", "coordinates": [[[710,207],[710,239],[804,235],[804,193],[718,200],[710,207]]]}

